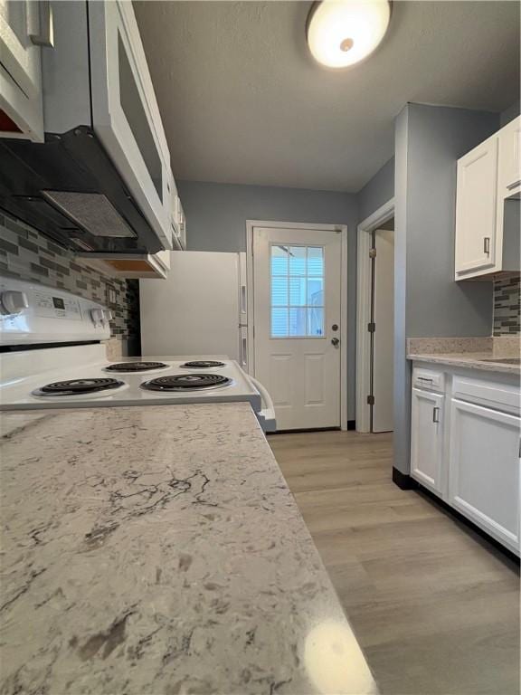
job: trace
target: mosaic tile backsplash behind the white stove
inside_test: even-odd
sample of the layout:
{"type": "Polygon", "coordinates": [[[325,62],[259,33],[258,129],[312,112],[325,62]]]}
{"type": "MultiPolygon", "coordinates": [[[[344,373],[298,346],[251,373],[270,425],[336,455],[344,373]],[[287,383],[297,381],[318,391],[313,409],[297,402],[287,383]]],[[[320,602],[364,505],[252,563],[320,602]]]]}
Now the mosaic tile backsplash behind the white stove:
{"type": "Polygon", "coordinates": [[[0,214],[0,274],[68,290],[112,310],[112,338],[123,355],[139,354],[139,284],[118,280],[85,262],[43,234],[0,214]]]}

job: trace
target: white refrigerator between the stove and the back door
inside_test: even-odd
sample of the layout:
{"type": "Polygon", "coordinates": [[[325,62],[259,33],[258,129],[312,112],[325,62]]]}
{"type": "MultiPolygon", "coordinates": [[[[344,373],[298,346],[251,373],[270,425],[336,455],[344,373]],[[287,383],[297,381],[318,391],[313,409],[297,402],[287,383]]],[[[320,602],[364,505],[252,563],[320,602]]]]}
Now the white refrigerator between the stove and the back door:
{"type": "Polygon", "coordinates": [[[227,355],[248,372],[246,254],[170,256],[165,280],[139,281],[141,354],[227,355]]]}

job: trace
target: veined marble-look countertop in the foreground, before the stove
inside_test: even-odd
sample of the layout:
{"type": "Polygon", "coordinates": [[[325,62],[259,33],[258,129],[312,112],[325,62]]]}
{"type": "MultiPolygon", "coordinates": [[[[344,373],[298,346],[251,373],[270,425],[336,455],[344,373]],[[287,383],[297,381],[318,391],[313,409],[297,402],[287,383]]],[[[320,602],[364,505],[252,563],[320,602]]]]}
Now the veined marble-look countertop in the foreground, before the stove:
{"type": "Polygon", "coordinates": [[[0,422],[3,695],[377,691],[249,405],[0,422]]]}

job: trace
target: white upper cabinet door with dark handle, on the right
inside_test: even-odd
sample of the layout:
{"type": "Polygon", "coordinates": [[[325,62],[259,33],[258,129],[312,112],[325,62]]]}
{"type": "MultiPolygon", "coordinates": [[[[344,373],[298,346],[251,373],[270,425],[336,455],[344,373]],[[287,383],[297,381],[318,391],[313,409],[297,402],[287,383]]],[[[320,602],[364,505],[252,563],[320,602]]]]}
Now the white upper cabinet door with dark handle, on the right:
{"type": "Polygon", "coordinates": [[[497,233],[497,136],[458,160],[456,279],[494,268],[497,233]]]}

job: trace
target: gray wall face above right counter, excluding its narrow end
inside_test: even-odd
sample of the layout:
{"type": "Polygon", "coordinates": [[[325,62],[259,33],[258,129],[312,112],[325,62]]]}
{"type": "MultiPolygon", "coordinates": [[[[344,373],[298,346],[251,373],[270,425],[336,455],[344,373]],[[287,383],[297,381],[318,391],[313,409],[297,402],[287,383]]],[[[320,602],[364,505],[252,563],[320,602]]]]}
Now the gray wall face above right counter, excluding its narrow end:
{"type": "Polygon", "coordinates": [[[454,281],[456,160],[497,130],[497,114],[406,108],[407,337],[489,336],[491,283],[454,281]]]}

